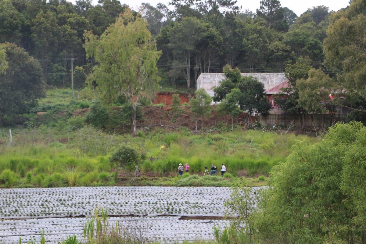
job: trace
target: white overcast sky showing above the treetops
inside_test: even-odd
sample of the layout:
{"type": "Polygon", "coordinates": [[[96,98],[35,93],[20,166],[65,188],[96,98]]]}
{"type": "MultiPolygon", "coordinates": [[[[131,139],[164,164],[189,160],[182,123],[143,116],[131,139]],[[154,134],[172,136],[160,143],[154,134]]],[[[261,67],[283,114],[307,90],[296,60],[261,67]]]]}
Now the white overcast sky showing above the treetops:
{"type": "MultiPolygon", "coordinates": [[[[253,12],[259,8],[260,0],[238,0],[237,5],[242,6],[242,10],[249,9],[253,12]]],[[[325,5],[329,7],[330,10],[340,10],[348,5],[349,0],[281,0],[282,7],[288,7],[290,10],[294,11],[298,16],[305,12],[308,8],[313,6],[325,5]]],[[[75,0],[71,0],[75,3],[75,0]]],[[[122,4],[126,3],[132,9],[137,10],[141,3],[150,3],[156,6],[157,3],[164,3],[168,5],[169,0],[120,0],[122,4]]],[[[93,4],[97,5],[98,0],[93,0],[93,4]]]]}

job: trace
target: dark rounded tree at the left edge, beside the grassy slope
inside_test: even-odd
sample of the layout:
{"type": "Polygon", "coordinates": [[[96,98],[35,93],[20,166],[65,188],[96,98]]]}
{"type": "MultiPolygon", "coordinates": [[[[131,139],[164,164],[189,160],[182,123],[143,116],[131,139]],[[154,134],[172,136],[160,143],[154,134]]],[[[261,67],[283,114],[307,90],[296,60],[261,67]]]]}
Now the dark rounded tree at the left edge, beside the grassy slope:
{"type": "MultiPolygon", "coordinates": [[[[19,46],[5,42],[8,67],[0,73],[0,126],[4,115],[25,113],[45,95],[40,63],[19,46]]],[[[1,50],[1,48],[0,48],[1,50]]],[[[1,51],[0,51],[1,55],[1,51]]]]}

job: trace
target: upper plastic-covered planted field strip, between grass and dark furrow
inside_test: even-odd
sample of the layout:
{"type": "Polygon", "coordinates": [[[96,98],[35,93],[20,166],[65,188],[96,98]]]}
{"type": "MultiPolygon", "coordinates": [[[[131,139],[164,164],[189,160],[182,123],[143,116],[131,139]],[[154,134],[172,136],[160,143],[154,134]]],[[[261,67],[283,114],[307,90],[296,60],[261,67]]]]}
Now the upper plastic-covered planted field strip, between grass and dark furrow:
{"type": "Polygon", "coordinates": [[[0,189],[0,219],[91,217],[97,207],[111,215],[223,216],[230,193],[215,187],[0,189]]]}

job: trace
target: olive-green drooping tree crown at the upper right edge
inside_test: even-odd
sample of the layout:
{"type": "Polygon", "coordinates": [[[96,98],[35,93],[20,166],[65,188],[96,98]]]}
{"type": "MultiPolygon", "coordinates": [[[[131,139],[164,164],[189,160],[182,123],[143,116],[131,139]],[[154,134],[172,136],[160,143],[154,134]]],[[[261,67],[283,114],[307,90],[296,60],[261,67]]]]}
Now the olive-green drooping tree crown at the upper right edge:
{"type": "Polygon", "coordinates": [[[348,93],[366,91],[366,3],[355,0],[331,16],[324,40],[325,64],[342,70],[337,78],[348,93]]]}

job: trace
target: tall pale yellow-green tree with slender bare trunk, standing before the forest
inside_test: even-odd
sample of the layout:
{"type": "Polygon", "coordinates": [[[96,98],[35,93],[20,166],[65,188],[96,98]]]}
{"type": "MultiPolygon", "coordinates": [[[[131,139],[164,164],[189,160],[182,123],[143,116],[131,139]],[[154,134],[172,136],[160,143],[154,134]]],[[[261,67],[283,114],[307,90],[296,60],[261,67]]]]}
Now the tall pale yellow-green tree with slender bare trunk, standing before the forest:
{"type": "Polygon", "coordinates": [[[97,83],[97,90],[105,103],[110,104],[118,95],[126,98],[132,106],[131,119],[136,134],[139,100],[145,90],[160,80],[156,63],[161,52],[156,50],[147,23],[126,9],[100,37],[88,31],[85,40],[87,57],[94,57],[98,63],[88,78],[89,82],[97,83]]]}

